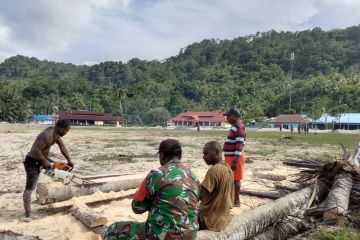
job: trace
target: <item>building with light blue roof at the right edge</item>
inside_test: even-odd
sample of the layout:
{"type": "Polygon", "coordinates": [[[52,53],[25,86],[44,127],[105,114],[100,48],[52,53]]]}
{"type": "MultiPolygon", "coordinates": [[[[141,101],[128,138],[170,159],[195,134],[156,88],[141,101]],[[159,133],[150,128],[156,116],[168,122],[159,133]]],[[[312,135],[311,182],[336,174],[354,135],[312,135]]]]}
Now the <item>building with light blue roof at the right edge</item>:
{"type": "Polygon", "coordinates": [[[360,129],[360,113],[340,113],[337,116],[323,114],[318,120],[313,122],[318,129],[360,129]]]}

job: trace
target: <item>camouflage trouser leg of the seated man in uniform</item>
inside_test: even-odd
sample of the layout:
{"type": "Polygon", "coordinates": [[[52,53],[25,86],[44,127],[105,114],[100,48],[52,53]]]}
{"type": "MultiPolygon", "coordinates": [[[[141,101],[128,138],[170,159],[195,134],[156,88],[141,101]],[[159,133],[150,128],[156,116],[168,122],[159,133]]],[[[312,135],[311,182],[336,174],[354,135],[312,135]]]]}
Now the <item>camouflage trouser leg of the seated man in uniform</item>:
{"type": "Polygon", "coordinates": [[[116,222],[111,224],[104,240],[141,240],[146,239],[145,222],[116,222]]]}

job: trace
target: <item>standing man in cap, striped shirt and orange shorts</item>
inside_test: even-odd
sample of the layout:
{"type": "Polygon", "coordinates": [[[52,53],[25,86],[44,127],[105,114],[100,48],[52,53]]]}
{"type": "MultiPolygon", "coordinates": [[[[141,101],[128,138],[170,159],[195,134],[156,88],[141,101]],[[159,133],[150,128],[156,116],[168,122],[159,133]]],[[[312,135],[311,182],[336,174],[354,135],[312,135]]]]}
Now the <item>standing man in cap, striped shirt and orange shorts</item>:
{"type": "Polygon", "coordinates": [[[237,108],[230,108],[224,113],[226,121],[231,124],[229,134],[224,143],[225,162],[234,173],[234,207],[240,207],[241,180],[244,177],[244,165],[246,155],[243,151],[246,132],[245,125],[241,121],[241,113],[237,108]]]}

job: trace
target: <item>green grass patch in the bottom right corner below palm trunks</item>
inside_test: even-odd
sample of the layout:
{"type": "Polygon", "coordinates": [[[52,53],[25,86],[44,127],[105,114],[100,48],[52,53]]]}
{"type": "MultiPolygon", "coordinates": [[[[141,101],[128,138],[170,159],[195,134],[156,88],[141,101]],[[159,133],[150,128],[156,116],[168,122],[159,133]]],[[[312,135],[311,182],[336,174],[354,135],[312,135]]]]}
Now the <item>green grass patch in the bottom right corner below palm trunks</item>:
{"type": "Polygon", "coordinates": [[[315,233],[318,240],[359,240],[360,232],[350,226],[322,228],[315,233]]]}

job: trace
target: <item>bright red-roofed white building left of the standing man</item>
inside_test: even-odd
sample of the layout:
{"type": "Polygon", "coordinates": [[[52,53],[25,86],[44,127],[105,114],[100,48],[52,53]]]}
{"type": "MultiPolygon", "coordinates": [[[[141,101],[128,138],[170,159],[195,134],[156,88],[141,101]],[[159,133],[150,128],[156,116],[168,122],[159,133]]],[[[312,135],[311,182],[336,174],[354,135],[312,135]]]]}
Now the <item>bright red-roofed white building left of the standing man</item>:
{"type": "Polygon", "coordinates": [[[170,118],[169,122],[177,127],[225,127],[223,112],[184,112],[170,118]]]}

